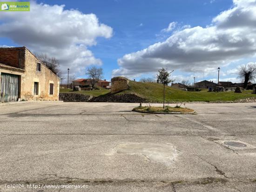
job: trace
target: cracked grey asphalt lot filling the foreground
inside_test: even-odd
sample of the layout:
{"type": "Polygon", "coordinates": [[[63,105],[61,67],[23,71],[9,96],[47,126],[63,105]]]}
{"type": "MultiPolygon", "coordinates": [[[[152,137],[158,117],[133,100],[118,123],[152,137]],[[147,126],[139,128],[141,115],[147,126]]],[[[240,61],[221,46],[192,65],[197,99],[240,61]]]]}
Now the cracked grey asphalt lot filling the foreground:
{"type": "Polygon", "coordinates": [[[196,115],[131,112],[135,106],[0,106],[0,191],[256,191],[256,149],[218,143],[231,139],[256,146],[256,103],[187,104],[196,115]],[[134,145],[142,148],[133,152],[134,145]]]}

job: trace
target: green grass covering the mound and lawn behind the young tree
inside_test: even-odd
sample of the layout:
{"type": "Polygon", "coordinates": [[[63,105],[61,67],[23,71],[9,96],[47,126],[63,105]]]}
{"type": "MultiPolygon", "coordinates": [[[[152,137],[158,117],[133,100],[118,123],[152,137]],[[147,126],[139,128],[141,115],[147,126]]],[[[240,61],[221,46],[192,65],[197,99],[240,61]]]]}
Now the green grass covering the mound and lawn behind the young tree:
{"type": "MultiPolygon", "coordinates": [[[[117,94],[135,93],[138,96],[148,99],[153,102],[163,101],[163,85],[157,83],[142,83],[142,82],[129,82],[130,89],[122,91],[117,94]]],[[[165,100],[166,101],[234,101],[248,97],[256,97],[256,94],[251,94],[252,91],[243,91],[243,93],[232,92],[207,92],[203,89],[200,92],[187,92],[165,86],[165,100]]]]}

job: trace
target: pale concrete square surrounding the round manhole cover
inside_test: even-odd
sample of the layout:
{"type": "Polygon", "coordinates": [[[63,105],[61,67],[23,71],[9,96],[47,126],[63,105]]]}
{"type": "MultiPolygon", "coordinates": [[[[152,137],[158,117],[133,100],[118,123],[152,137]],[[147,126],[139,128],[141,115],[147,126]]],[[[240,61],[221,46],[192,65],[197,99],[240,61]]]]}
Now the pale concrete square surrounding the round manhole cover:
{"type": "Polygon", "coordinates": [[[216,140],[215,142],[232,150],[256,149],[256,146],[240,140],[216,140]]]}

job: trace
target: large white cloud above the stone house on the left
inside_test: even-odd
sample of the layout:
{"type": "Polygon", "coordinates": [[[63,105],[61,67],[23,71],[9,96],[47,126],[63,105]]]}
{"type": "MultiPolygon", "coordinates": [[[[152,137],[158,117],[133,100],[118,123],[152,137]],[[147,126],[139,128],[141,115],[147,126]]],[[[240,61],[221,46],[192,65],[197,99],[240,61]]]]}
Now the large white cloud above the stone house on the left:
{"type": "Polygon", "coordinates": [[[84,74],[88,65],[101,65],[88,46],[97,37],[110,38],[111,27],[99,22],[95,14],[64,10],[64,5],[50,6],[30,2],[30,12],[0,12],[0,37],[7,37],[32,52],[47,53],[61,61],[61,70],[84,74]]]}

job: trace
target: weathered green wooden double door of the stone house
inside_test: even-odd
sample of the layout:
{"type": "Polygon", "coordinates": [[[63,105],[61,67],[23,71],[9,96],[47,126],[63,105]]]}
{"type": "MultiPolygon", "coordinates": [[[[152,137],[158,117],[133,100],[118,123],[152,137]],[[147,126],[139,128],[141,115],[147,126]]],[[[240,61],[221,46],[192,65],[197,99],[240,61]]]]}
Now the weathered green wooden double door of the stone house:
{"type": "Polygon", "coordinates": [[[19,75],[1,73],[0,102],[17,101],[19,97],[19,75]]]}

